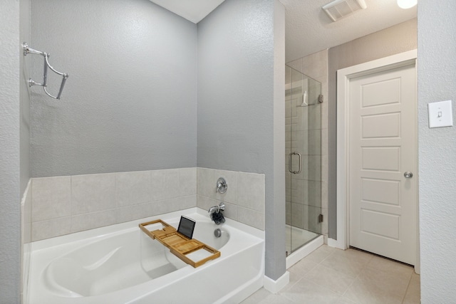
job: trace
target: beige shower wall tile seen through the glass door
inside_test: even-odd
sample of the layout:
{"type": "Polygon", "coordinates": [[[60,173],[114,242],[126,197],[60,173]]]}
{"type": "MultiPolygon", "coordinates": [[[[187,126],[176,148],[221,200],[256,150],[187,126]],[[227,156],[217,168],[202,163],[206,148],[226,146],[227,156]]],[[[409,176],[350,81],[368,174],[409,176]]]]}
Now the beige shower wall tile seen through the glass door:
{"type": "MultiPolygon", "coordinates": [[[[295,83],[295,80],[293,82],[295,83]]],[[[301,173],[286,172],[289,179],[286,201],[288,207],[291,204],[291,209],[286,209],[287,224],[319,233],[321,224],[317,219],[321,206],[321,105],[318,105],[318,94],[315,88],[312,88],[313,80],[299,82],[303,89],[286,96],[286,108],[289,109],[286,112],[286,153],[299,151],[302,158],[301,173]],[[299,107],[303,91],[309,93],[308,103],[313,106],[299,107]]],[[[292,169],[296,171],[298,167],[294,167],[295,165],[296,163],[293,163],[292,169]]]]}

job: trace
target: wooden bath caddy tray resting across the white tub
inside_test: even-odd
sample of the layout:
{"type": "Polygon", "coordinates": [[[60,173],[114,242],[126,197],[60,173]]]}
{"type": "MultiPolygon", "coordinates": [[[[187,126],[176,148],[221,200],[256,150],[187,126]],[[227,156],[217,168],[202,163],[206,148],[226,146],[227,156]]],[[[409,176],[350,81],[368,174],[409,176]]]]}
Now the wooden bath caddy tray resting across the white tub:
{"type": "Polygon", "coordinates": [[[155,221],[148,221],[147,223],[139,224],[140,229],[144,231],[147,236],[150,236],[152,239],[156,239],[163,245],[170,248],[172,254],[180,258],[187,264],[190,264],[193,267],[202,266],[202,264],[206,263],[207,261],[214,260],[220,256],[220,251],[207,246],[205,243],[202,243],[196,239],[189,239],[187,236],[180,234],[176,231],[176,229],[167,224],[165,221],[161,219],[157,219],[155,221]],[[163,229],[157,229],[154,231],[150,231],[146,228],[146,226],[151,224],[162,224],[163,229]],[[193,261],[191,258],[187,257],[190,253],[193,253],[198,250],[204,249],[209,253],[212,253],[210,256],[203,258],[200,261],[193,261]]]}

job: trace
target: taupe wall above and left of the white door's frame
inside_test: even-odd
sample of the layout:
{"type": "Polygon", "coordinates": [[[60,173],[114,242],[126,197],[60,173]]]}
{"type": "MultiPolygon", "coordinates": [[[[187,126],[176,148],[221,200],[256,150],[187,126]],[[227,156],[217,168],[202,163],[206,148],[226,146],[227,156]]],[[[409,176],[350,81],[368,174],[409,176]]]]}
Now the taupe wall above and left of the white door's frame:
{"type": "Polygon", "coordinates": [[[417,48],[417,19],[358,38],[328,51],[328,237],[337,239],[337,70],[417,48]]]}

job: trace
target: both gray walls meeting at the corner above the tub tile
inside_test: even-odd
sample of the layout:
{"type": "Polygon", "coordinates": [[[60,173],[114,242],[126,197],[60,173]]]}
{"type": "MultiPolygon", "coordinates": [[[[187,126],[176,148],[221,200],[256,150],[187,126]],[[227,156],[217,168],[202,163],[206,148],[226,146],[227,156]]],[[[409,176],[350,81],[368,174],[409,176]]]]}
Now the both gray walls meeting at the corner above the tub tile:
{"type": "MultiPolygon", "coordinates": [[[[274,120],[284,118],[274,117],[274,56],[280,70],[284,55],[274,53],[274,5],[226,1],[197,28],[147,0],[33,1],[31,46],[70,78],[60,102],[33,88],[32,176],[196,165],[264,173],[266,269],[281,276],[274,162],[283,164],[283,153],[274,158],[274,120]]],[[[33,61],[33,78],[41,70],[33,61]]],[[[60,79],[48,83],[56,92],[60,79]]]]}

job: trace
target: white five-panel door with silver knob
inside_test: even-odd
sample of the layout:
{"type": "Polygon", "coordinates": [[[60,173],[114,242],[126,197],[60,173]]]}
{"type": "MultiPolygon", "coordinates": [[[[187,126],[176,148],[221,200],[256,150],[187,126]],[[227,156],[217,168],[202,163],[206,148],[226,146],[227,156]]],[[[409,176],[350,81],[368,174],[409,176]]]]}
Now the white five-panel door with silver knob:
{"type": "Polygon", "coordinates": [[[350,246],[415,265],[415,64],[349,86],[350,246]]]}

